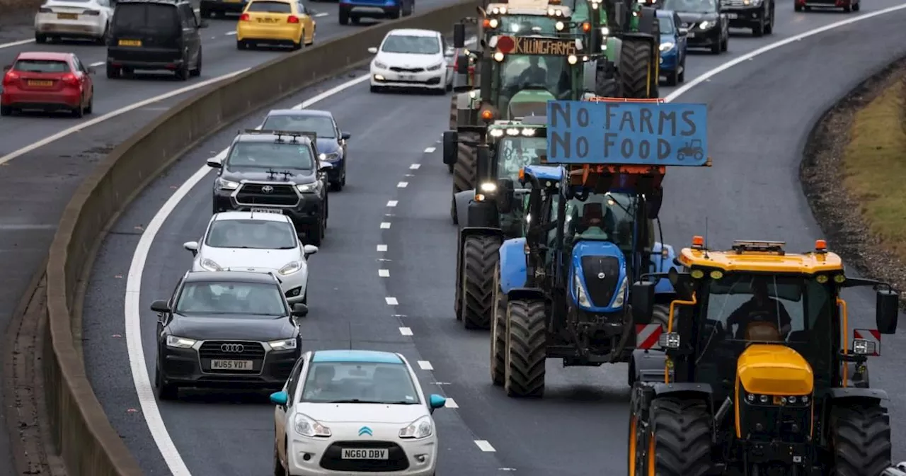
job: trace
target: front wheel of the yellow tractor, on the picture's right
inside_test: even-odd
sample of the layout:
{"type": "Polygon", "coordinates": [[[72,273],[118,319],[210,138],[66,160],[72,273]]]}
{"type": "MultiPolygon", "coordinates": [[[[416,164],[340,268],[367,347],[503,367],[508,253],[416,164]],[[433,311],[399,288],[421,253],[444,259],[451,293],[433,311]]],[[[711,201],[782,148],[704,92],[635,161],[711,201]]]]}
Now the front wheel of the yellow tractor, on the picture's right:
{"type": "Polygon", "coordinates": [[[834,406],[831,444],[833,476],[881,474],[891,466],[891,418],[887,409],[878,403],[834,406]]]}

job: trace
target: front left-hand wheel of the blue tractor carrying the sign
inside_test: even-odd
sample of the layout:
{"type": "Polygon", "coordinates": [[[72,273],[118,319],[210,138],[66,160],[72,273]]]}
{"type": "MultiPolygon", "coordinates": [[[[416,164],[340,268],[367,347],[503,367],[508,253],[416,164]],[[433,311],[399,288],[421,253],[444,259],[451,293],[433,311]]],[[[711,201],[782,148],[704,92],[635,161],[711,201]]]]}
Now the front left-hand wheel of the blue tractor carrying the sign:
{"type": "Polygon", "coordinates": [[[511,397],[545,394],[547,325],[545,302],[516,300],[506,304],[506,377],[511,397]]]}

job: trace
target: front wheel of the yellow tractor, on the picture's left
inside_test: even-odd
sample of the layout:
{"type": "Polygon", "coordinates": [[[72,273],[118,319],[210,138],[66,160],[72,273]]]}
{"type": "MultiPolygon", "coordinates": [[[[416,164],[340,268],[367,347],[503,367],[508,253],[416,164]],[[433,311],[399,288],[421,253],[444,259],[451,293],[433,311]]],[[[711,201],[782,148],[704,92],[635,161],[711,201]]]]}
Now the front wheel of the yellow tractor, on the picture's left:
{"type": "Polygon", "coordinates": [[[705,476],[711,473],[714,466],[711,415],[704,401],[655,399],[651,402],[649,423],[648,434],[641,435],[642,426],[636,424],[636,444],[630,442],[630,451],[633,446],[637,450],[630,454],[630,468],[634,467],[636,474],[705,476]],[[650,465],[654,467],[648,467],[650,465]]]}

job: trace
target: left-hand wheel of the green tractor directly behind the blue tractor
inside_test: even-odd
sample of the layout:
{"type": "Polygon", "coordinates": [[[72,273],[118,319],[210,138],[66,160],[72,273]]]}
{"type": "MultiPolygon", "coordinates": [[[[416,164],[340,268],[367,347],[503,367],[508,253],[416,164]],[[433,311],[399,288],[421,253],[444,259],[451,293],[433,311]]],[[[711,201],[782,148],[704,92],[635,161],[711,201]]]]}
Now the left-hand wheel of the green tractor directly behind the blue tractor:
{"type": "Polygon", "coordinates": [[[467,329],[487,329],[494,310],[494,270],[500,238],[471,235],[462,243],[462,323],[467,329]]]}

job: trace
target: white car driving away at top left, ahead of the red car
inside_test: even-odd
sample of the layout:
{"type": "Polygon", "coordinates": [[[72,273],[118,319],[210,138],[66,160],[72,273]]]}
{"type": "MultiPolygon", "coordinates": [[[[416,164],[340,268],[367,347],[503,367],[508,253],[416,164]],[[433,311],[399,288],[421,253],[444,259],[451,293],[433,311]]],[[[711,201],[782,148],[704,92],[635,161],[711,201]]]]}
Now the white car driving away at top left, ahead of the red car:
{"type": "Polygon", "coordinates": [[[111,0],[47,0],[34,14],[34,41],[65,37],[105,44],[112,17],[111,0]]]}

